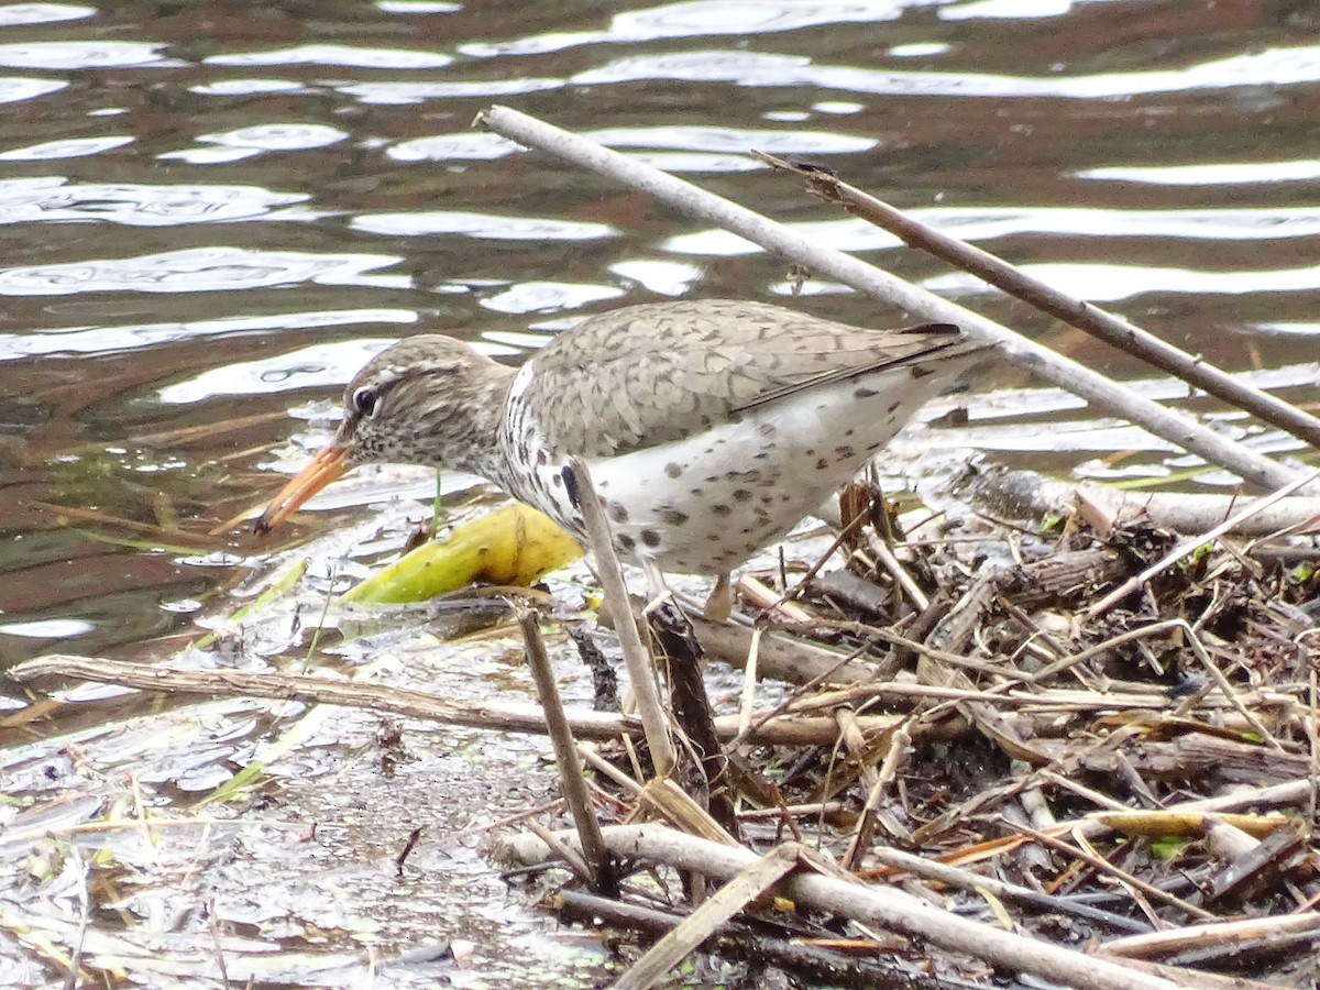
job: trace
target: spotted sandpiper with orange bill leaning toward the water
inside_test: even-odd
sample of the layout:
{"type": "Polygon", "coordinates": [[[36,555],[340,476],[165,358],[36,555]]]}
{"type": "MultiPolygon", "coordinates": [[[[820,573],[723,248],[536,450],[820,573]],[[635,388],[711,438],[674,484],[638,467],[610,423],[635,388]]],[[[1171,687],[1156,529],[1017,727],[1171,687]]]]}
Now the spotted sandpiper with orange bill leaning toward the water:
{"type": "Polygon", "coordinates": [[[626,558],[727,587],[982,350],[948,323],[861,330],[729,300],[591,317],[516,371],[449,337],[407,338],[348,383],[334,441],[257,532],[385,461],[478,474],[582,539],[565,480],[579,457],[626,558]]]}

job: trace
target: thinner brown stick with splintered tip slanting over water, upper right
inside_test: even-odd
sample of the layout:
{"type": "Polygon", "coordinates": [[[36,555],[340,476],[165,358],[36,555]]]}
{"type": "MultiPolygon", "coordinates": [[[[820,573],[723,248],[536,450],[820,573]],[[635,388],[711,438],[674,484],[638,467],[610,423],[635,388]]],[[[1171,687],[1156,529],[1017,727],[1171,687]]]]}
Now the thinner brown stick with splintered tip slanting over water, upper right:
{"type": "Polygon", "coordinates": [[[941,257],[970,272],[985,282],[1030,302],[1036,309],[1097,337],[1105,343],[1140,358],[1147,364],[1167,371],[1175,378],[1222,399],[1229,405],[1243,409],[1258,420],[1291,433],[1313,447],[1320,447],[1320,420],[1276,396],[1238,381],[1228,372],[1155,337],[1113,313],[1076,300],[1067,293],[1032,279],[1001,257],[968,244],[965,240],[942,234],[888,203],[863,193],[857,186],[838,180],[832,173],[785,161],[774,154],[755,153],[758,158],[776,169],[787,169],[803,177],[807,187],[822,199],[841,205],[854,216],[861,216],[915,248],[941,257]]]}

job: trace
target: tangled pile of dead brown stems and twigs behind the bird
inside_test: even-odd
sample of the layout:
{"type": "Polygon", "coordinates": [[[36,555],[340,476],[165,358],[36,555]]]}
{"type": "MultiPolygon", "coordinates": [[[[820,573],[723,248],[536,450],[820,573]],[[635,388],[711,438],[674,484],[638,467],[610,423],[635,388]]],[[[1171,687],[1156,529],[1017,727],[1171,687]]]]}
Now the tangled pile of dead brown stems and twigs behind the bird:
{"type": "MultiPolygon", "coordinates": [[[[775,673],[796,682],[750,710],[717,693],[714,725],[741,730],[723,772],[689,767],[704,808],[602,777],[614,801],[598,810],[762,855],[792,841],[814,869],[1170,981],[1152,985],[1320,983],[1315,541],[1230,536],[1162,566],[1184,537],[1144,520],[928,517],[906,536],[874,492],[842,504],[845,569],[775,590],[744,581],[763,595],[755,644],[693,620],[708,656],[739,668],[780,642],[775,673]],[[793,651],[812,663],[797,669],[793,651]]],[[[671,669],[697,663],[667,653],[671,669]]],[[[636,766],[631,750],[605,752],[636,766]]],[[[618,906],[573,890],[564,915],[672,928],[676,913],[647,912],[675,912],[690,895],[676,878],[690,887],[692,874],[657,888],[663,874],[635,866],[649,873],[618,906]]],[[[808,982],[961,986],[998,972],[970,944],[940,952],[784,907],[754,902],[755,921],[706,944],[747,957],[755,929],[810,949],[770,954],[808,982]]]]}

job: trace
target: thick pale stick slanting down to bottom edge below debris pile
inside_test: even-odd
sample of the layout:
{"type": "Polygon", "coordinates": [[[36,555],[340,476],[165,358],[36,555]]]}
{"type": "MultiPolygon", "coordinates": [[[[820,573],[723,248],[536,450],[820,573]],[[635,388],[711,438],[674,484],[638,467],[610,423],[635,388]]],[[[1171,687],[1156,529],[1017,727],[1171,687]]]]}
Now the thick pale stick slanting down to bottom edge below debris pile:
{"type": "MultiPolygon", "coordinates": [[[[572,838],[569,838],[572,841],[572,838]]],[[[656,825],[620,825],[605,829],[605,841],[618,857],[698,870],[723,880],[755,866],[750,849],[706,842],[656,825]]],[[[532,836],[504,841],[504,855],[519,863],[550,858],[549,847],[532,836]]],[[[793,902],[851,917],[863,924],[924,939],[952,952],[962,952],[1020,973],[1032,973],[1077,990],[1185,990],[1193,983],[1139,973],[1109,960],[1005,932],[960,917],[903,894],[842,876],[795,873],[781,882],[793,902]]]]}

